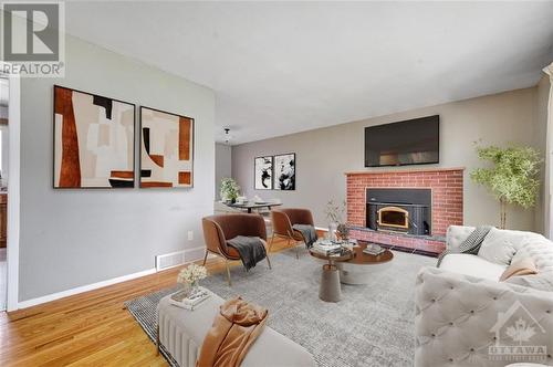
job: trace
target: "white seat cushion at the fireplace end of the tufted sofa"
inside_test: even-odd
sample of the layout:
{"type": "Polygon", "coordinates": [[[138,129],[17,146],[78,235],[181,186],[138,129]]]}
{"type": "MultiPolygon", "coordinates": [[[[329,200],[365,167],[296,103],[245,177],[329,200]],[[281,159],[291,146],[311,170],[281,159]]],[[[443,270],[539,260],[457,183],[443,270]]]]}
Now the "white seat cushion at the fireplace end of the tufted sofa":
{"type": "Polygon", "coordinates": [[[458,274],[499,281],[507,266],[489,262],[477,255],[450,253],[441,261],[440,269],[458,274]]]}

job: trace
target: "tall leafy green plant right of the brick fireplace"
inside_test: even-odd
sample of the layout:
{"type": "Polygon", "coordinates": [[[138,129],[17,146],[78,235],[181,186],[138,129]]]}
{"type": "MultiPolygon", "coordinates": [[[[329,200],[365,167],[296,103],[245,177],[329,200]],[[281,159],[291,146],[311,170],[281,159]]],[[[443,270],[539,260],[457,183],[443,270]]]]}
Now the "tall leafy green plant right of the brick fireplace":
{"type": "Polygon", "coordinates": [[[535,206],[540,180],[540,153],[531,147],[495,146],[477,147],[478,157],[490,161],[490,168],[477,168],[470,178],[488,188],[500,205],[500,227],[507,224],[507,206],[518,205],[524,209],[535,206]]]}

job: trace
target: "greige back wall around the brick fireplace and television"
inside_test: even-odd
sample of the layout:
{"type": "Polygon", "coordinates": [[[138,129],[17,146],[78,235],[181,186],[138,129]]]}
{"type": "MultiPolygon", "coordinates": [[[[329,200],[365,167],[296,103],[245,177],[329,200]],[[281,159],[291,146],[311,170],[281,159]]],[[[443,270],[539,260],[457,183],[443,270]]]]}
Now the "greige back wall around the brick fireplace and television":
{"type": "MultiPolygon", "coordinates": [[[[542,126],[544,122],[536,117],[536,87],[511,91],[237,145],[232,147],[232,175],[246,196],[279,198],[286,207],[309,208],[313,211],[315,223],[326,227],[325,205],[328,199],[345,199],[346,171],[466,167],[466,224],[499,224],[499,203],[484,188],[469,179],[469,172],[483,165],[477,157],[473,141],[482,139],[482,145],[505,145],[513,141],[534,146],[543,153],[545,127],[542,126]],[[365,126],[436,114],[441,118],[439,165],[364,167],[365,126]],[[282,153],[296,154],[296,190],[254,190],[253,158],[282,153]]],[[[512,229],[541,231],[543,227],[536,224],[535,217],[534,209],[509,208],[508,226],[512,229]]]]}

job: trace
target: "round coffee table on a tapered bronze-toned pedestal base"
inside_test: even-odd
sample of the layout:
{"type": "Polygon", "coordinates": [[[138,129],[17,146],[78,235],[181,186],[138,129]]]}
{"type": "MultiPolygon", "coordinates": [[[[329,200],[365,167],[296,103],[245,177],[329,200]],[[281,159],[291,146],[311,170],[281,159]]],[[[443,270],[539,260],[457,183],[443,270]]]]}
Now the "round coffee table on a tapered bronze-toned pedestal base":
{"type": "Polygon", "coordinates": [[[319,297],[325,302],[338,302],[342,298],[342,291],[340,289],[340,270],[336,263],[351,260],[353,253],[348,251],[341,255],[325,255],[313,250],[310,250],[310,253],[313,258],[327,262],[321,272],[319,297]]]}

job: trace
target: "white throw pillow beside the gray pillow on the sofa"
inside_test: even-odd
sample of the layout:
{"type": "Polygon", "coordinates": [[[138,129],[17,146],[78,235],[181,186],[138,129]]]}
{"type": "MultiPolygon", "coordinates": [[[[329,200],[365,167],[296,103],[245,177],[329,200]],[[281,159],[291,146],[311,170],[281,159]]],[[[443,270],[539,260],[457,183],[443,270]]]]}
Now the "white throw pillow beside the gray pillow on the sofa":
{"type": "Polygon", "coordinates": [[[523,235],[492,228],[482,241],[478,255],[489,262],[508,266],[517,252],[523,235]]]}

